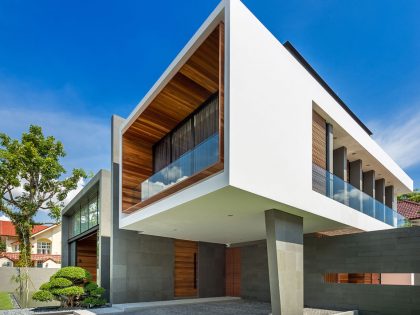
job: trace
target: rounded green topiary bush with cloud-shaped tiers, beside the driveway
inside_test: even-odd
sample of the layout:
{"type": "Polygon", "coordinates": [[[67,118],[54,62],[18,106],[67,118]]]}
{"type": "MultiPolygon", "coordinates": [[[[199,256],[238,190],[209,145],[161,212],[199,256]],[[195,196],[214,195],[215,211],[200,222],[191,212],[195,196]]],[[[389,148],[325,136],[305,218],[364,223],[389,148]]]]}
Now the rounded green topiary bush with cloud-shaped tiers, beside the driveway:
{"type": "Polygon", "coordinates": [[[80,267],[64,267],[40,286],[32,299],[41,302],[57,300],[62,307],[94,307],[106,304],[105,289],[92,282],[92,275],[80,267]]]}

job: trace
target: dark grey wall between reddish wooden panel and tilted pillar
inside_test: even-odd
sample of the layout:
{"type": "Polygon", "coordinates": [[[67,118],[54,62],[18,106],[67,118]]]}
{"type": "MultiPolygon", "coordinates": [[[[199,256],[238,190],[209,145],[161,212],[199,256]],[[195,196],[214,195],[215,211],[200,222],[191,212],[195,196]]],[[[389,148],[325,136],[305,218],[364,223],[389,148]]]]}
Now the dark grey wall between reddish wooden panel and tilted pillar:
{"type": "Polygon", "coordinates": [[[267,243],[241,247],[241,297],[270,302],[267,243]]]}

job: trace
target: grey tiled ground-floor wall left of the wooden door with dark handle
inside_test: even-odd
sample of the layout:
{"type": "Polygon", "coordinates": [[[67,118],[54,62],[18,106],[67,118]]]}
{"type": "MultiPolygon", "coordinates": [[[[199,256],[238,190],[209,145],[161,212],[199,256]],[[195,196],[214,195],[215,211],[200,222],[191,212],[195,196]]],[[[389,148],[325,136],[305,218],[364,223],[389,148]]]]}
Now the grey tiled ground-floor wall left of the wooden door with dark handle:
{"type": "Polygon", "coordinates": [[[173,299],[172,239],[114,228],[112,242],[112,303],[173,299]]]}

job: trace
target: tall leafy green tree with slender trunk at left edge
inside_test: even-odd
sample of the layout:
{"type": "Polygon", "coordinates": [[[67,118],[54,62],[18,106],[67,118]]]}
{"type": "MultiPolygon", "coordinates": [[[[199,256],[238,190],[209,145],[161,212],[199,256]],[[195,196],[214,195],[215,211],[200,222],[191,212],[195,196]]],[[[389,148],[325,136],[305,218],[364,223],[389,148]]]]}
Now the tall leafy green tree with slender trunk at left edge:
{"type": "Polygon", "coordinates": [[[31,263],[30,236],[34,216],[48,210],[55,221],[67,194],[77,188],[82,169],[66,171],[60,163],[65,156],[63,144],[52,136],[44,136],[41,127],[31,125],[21,140],[0,133],[0,212],[10,218],[20,243],[18,266],[31,263]]]}

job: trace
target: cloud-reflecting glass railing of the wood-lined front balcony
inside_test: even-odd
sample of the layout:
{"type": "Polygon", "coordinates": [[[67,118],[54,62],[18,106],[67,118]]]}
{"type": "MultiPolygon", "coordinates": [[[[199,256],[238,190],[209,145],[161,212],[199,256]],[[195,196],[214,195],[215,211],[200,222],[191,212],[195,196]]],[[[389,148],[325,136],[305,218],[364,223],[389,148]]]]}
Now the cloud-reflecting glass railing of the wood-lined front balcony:
{"type": "Polygon", "coordinates": [[[219,134],[215,133],[192,150],[184,153],[178,160],[142,182],[141,200],[149,199],[162,190],[215,164],[218,160],[219,134]]]}

